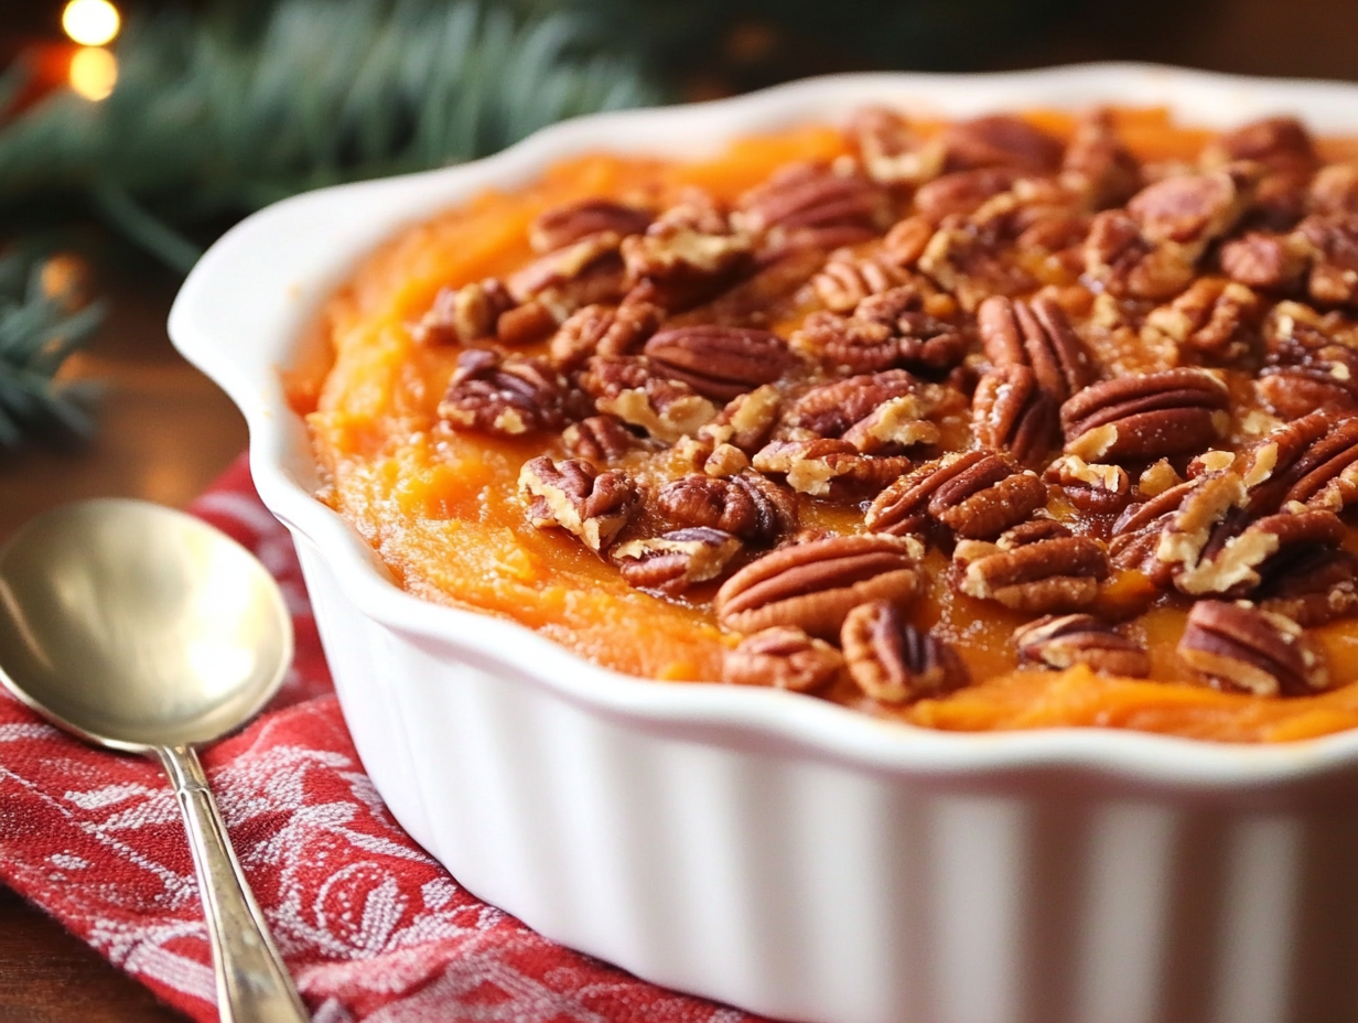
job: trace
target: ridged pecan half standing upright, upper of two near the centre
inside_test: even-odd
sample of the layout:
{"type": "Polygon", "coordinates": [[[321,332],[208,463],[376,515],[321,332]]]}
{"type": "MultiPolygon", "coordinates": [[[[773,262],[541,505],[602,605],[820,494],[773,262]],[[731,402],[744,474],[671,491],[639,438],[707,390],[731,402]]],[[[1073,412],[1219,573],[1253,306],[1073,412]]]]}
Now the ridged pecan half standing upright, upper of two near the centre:
{"type": "Polygon", "coordinates": [[[1032,302],[1012,302],[997,295],[980,303],[976,317],[991,364],[1031,367],[1055,402],[1093,383],[1093,360],[1052,299],[1039,295],[1032,302]]]}

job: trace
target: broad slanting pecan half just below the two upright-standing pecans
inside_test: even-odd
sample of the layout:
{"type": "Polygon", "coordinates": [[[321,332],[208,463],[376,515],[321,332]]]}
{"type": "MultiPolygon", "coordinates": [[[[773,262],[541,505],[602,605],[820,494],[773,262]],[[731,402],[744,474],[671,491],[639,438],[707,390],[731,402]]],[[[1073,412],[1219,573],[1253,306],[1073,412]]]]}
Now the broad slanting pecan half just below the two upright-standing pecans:
{"type": "Polygon", "coordinates": [[[1046,503],[1043,482],[1002,455],[952,452],[877,495],[864,522],[873,533],[906,535],[933,519],[959,537],[997,537],[1046,503]]]}

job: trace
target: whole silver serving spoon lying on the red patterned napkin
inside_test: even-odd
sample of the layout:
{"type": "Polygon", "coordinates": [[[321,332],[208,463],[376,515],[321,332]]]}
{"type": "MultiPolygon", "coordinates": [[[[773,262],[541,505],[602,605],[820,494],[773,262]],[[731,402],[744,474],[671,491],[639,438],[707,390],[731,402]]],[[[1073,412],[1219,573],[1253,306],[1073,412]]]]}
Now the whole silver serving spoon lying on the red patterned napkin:
{"type": "Polygon", "coordinates": [[[88,742],[160,758],[189,830],[228,1023],[310,1016],[193,746],[258,713],[291,660],[278,586],[191,515],[81,501],[34,519],[0,549],[0,683],[88,742]]]}

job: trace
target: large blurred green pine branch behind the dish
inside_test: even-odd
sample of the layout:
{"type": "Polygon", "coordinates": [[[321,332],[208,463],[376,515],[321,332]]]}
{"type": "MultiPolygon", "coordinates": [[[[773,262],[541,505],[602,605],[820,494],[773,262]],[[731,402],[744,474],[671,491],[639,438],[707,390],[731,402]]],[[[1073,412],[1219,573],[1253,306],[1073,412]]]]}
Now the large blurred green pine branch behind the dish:
{"type": "Polygon", "coordinates": [[[630,58],[587,39],[580,15],[481,0],[278,0],[132,22],[107,99],[61,90],[8,118],[0,103],[0,215],[92,196],[183,269],[193,249],[175,228],[657,98],[630,58]]]}

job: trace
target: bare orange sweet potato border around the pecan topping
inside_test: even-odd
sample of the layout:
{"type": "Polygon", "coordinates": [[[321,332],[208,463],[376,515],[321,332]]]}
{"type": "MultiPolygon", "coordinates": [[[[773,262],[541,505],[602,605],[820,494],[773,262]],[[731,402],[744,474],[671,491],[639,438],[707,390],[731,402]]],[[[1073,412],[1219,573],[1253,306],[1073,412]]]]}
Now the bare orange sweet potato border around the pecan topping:
{"type": "MultiPolygon", "coordinates": [[[[1057,134],[1070,130],[1061,114],[1033,120],[1057,134]]],[[[1173,128],[1160,111],[1122,113],[1119,130],[1143,159],[1188,156],[1207,137],[1173,128]]],[[[319,331],[329,342],[329,365],[289,382],[295,402],[308,413],[329,481],[322,499],[360,530],[410,592],[512,618],[623,672],[720,678],[722,649],[735,637],[712,615],[716,586],[661,599],[627,586],[561,531],[530,526],[516,496],[519,470],[540,454],[562,458],[559,437],[502,439],[439,428],[436,408],[458,349],[416,344],[410,325],[440,288],[507,274],[528,259],[527,230],[545,209],[592,196],[660,207],[689,185],[733,200],[790,160],[827,160],[842,151],[837,130],[804,128],[748,139],[693,164],[589,154],[553,167],[528,187],[481,196],[394,238],[326,306],[319,331]]],[[[656,470],[650,465],[638,471],[656,470]]],[[[818,523],[861,528],[845,508],[811,503],[801,524],[818,523]]],[[[933,577],[941,580],[945,560],[929,557],[933,577]]],[[[1115,579],[1101,599],[1124,599],[1137,587],[1135,577],[1115,579]]],[[[941,581],[911,615],[956,644],[971,686],[902,708],[875,705],[843,686],[828,696],[956,731],[1099,725],[1278,742],[1358,725],[1358,686],[1270,700],[1186,681],[1175,658],[1183,606],[1158,606],[1134,626],[1152,653],[1146,681],[1105,678],[1084,667],[1016,671],[1009,637],[1025,618],[957,595],[941,581]]],[[[1315,636],[1334,678],[1358,678],[1358,628],[1336,622],[1315,636]]]]}

